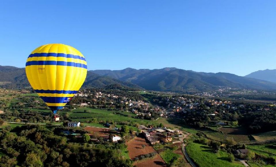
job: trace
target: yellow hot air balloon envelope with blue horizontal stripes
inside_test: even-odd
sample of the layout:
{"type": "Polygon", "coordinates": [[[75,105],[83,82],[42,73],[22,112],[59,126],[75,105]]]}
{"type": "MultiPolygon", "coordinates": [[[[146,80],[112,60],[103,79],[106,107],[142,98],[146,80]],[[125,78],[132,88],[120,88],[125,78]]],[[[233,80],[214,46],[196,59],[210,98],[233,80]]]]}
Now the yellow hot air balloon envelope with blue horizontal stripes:
{"type": "Polygon", "coordinates": [[[42,45],[26,62],[26,75],[32,88],[57,114],[81,88],[87,63],[77,49],[64,44],[42,45]]]}

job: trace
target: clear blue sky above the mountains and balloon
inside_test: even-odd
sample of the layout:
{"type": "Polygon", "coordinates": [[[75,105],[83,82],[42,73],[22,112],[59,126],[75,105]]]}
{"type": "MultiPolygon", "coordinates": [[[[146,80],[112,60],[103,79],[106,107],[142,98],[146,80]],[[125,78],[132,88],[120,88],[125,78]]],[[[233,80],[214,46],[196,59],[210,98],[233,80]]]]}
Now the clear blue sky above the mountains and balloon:
{"type": "Polygon", "coordinates": [[[47,43],[88,69],[176,67],[246,75],[276,69],[275,0],[0,1],[0,65],[47,43]]]}

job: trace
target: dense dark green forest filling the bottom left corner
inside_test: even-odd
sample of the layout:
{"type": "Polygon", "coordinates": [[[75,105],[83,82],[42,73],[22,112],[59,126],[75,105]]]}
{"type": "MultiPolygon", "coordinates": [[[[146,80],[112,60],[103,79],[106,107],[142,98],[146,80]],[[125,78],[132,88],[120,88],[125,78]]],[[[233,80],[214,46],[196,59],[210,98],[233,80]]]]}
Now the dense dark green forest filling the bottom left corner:
{"type": "Polygon", "coordinates": [[[66,137],[55,135],[43,126],[26,125],[0,132],[2,151],[0,166],[132,166],[129,159],[120,155],[124,143],[89,144],[70,142],[66,137]]]}

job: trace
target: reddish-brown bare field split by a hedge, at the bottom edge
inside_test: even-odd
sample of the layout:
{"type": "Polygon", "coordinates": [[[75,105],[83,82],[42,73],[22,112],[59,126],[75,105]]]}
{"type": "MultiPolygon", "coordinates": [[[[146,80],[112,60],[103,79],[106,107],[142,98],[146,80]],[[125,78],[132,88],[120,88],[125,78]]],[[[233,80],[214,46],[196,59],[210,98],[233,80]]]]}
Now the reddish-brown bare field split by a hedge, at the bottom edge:
{"type": "MultiPolygon", "coordinates": [[[[146,142],[146,140],[142,137],[136,137],[135,139],[129,141],[127,143],[127,149],[129,150],[129,157],[134,159],[135,157],[139,157],[140,155],[156,152],[154,148],[146,142]],[[145,145],[145,148],[142,148],[142,145],[145,145]]],[[[156,155],[154,159],[149,159],[146,161],[141,161],[135,164],[137,167],[160,167],[166,166],[166,163],[161,158],[159,154],[156,155]]]]}

